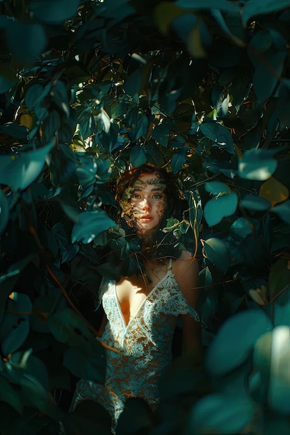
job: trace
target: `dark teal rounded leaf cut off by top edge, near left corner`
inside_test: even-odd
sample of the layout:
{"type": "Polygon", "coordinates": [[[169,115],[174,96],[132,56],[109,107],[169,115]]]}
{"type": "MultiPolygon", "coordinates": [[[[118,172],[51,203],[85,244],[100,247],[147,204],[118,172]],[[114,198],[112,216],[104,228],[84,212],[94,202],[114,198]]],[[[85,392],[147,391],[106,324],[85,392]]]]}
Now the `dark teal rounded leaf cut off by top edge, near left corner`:
{"type": "Polygon", "coordinates": [[[34,19],[41,22],[57,24],[76,17],[79,0],[38,0],[29,3],[29,10],[34,19]]]}

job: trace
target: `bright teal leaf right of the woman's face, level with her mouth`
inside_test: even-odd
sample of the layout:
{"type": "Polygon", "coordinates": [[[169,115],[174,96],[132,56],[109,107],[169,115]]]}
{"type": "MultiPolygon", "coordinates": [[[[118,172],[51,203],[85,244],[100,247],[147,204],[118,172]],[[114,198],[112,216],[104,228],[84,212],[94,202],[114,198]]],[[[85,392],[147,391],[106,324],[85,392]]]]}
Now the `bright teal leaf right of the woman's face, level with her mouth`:
{"type": "Polygon", "coordinates": [[[236,192],[229,192],[220,197],[209,199],[204,206],[204,217],[209,227],[218,224],[223,217],[231,216],[238,205],[236,192]]]}

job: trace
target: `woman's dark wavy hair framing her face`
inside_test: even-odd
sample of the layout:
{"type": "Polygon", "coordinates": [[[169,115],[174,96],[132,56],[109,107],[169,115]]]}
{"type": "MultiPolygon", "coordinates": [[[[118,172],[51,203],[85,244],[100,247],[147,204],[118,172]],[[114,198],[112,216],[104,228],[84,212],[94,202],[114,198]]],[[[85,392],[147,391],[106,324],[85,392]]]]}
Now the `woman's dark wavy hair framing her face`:
{"type": "MultiPolygon", "coordinates": [[[[154,233],[150,246],[144,246],[143,254],[145,252],[147,257],[160,258],[161,260],[162,258],[168,256],[172,258],[178,258],[182,252],[182,247],[179,245],[178,240],[172,235],[172,233],[164,233],[162,231],[162,229],[166,227],[166,220],[168,220],[170,217],[175,217],[178,220],[182,219],[182,212],[185,208],[184,200],[181,199],[181,195],[179,193],[177,179],[171,172],[149,164],[128,170],[122,174],[116,183],[115,200],[118,204],[124,201],[126,190],[133,187],[140,175],[145,173],[156,174],[156,176],[159,178],[159,181],[164,183],[165,188],[163,191],[166,194],[167,206],[160,222],[159,229],[157,229],[154,233]]],[[[129,236],[130,234],[134,233],[134,221],[131,220],[129,214],[126,215],[126,212],[119,211],[118,222],[125,229],[129,236]],[[122,219],[122,217],[125,217],[125,219],[122,219]],[[126,217],[129,219],[126,220],[126,217]]]]}

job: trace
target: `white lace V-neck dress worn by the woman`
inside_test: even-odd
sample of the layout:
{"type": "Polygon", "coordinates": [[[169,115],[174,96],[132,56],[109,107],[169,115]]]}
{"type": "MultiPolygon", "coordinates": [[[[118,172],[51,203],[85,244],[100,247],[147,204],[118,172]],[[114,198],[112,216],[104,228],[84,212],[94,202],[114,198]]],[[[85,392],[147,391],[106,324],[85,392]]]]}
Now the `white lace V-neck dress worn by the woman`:
{"type": "Polygon", "coordinates": [[[122,315],[115,281],[106,281],[102,303],[108,318],[102,341],[119,353],[106,351],[104,385],[83,379],[76,384],[73,404],[85,399],[97,400],[111,414],[114,427],[129,397],[141,397],[152,409],[156,408],[159,379],[172,359],[177,316],[188,314],[199,319],[179,289],[171,265],[128,325],[122,315]]]}

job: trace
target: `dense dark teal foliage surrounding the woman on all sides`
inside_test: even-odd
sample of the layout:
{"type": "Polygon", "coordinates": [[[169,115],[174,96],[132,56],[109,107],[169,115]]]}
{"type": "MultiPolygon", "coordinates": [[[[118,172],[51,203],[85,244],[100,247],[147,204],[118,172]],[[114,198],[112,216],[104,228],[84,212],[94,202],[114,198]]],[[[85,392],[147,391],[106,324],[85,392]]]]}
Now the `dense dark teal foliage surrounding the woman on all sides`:
{"type": "Polygon", "coordinates": [[[61,395],[104,379],[99,282],[138,251],[110,186],[145,162],[188,202],[165,231],[200,257],[209,347],[118,434],[289,434],[289,22],[283,0],[0,1],[1,434],[110,433],[61,395]]]}

